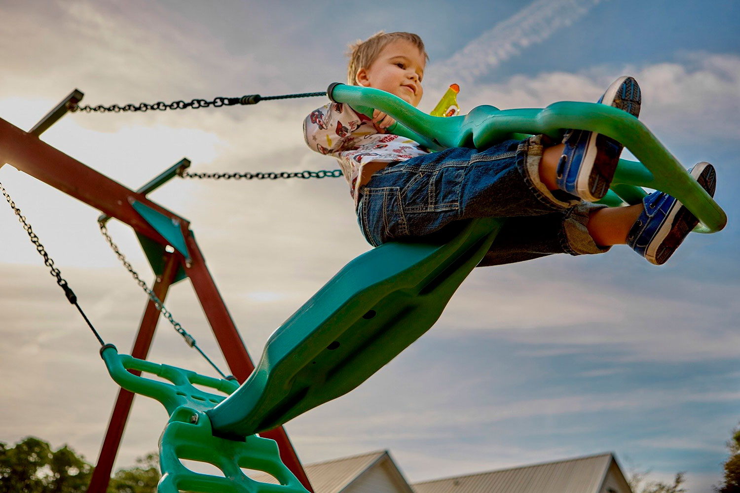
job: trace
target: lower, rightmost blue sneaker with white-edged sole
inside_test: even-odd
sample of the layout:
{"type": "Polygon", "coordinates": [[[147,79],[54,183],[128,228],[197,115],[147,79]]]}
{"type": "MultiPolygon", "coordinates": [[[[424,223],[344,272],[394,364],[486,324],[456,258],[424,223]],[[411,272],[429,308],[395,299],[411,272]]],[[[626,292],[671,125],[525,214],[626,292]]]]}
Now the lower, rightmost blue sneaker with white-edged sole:
{"type": "MultiPolygon", "coordinates": [[[[707,194],[714,197],[717,181],[714,166],[699,163],[690,170],[690,174],[707,194]]],[[[627,244],[647,262],[662,265],[699,224],[699,220],[676,198],[662,191],[654,191],[642,203],[645,210],[630,229],[627,244]]]]}

